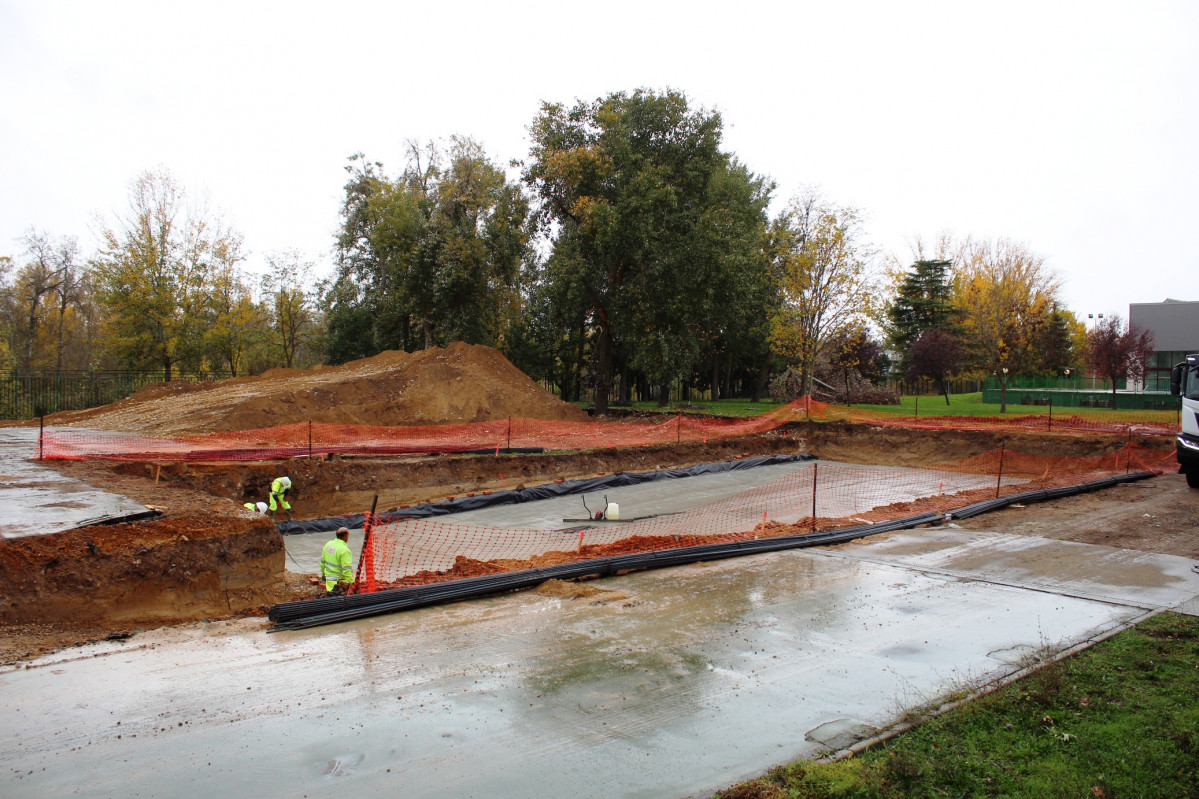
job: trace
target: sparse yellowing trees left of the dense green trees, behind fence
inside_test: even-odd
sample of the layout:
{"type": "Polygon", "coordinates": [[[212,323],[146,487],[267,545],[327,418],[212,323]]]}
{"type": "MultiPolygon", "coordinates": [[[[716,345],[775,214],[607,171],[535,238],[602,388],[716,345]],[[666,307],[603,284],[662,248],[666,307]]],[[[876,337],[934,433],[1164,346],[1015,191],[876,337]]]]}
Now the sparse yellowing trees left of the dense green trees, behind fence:
{"type": "Polygon", "coordinates": [[[168,173],[129,187],[128,208],[82,257],[31,228],[0,259],[0,368],[144,370],[239,377],[323,358],[323,314],[300,253],[251,276],[241,235],[188,202],[168,173]]]}

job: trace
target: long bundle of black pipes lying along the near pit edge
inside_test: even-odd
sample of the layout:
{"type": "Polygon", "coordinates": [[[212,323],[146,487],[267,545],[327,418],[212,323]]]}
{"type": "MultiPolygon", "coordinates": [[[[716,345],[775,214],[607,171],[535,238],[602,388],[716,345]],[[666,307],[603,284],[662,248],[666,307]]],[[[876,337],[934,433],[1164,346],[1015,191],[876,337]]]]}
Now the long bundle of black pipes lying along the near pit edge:
{"type": "Polygon", "coordinates": [[[739,558],[741,555],[758,554],[763,552],[779,552],[783,549],[799,549],[803,547],[829,546],[844,543],[855,539],[864,539],[879,533],[891,533],[921,524],[933,524],[947,518],[970,518],[989,511],[1000,510],[1013,504],[1030,504],[1071,497],[1099,488],[1107,488],[1122,482],[1133,482],[1146,477],[1157,476],[1152,471],[1134,471],[1132,474],[1115,475],[1079,483],[1077,486],[1065,486],[1062,488],[1043,488],[1041,491],[1028,491],[1011,497],[988,499],[974,503],[964,507],[958,507],[948,513],[920,513],[891,519],[888,522],[876,522],[875,524],[860,524],[856,527],[842,528],[839,530],[826,530],[821,533],[807,533],[802,535],[788,535],[771,539],[754,539],[749,541],[734,541],[729,543],[706,543],[693,547],[679,547],[675,549],[659,549],[656,552],[638,552],[627,555],[614,555],[610,558],[596,558],[577,563],[546,566],[543,569],[524,569],[510,571],[502,575],[487,575],[483,577],[468,577],[465,579],[433,583],[430,585],[412,585],[409,588],[393,588],[373,594],[354,594],[351,596],[326,596],[314,600],[301,600],[297,602],[282,602],[275,605],[267,612],[266,618],[275,621],[275,626],[269,632],[283,630],[303,630],[338,621],[350,621],[364,619],[372,615],[409,611],[417,607],[441,605],[445,602],[458,602],[466,599],[487,596],[522,588],[532,588],[547,579],[578,579],[580,577],[607,577],[622,571],[641,571],[646,569],[664,569],[667,566],[681,566],[701,560],[721,560],[724,558],[739,558]]]}

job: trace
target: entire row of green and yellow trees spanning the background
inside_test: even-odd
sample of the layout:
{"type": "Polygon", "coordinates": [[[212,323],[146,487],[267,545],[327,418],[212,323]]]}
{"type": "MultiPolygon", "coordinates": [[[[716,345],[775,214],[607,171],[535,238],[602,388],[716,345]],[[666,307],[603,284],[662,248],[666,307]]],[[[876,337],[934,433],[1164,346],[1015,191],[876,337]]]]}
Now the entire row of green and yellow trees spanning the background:
{"type": "Polygon", "coordinates": [[[546,102],[529,130],[512,174],[469,137],[409,143],[396,174],[351,156],[320,281],[295,251],[252,277],[231,224],[144,173],[96,253],[30,229],[0,259],[0,367],[241,376],[465,341],[603,413],[693,391],[881,402],[888,376],[947,401],[951,378],[982,373],[1006,403],[1013,377],[1086,364],[1114,386],[1151,348],[1119,325],[1087,335],[1020,242],[942,236],[905,264],[813,188],[772,217],[773,181],[681,92],[546,102]]]}

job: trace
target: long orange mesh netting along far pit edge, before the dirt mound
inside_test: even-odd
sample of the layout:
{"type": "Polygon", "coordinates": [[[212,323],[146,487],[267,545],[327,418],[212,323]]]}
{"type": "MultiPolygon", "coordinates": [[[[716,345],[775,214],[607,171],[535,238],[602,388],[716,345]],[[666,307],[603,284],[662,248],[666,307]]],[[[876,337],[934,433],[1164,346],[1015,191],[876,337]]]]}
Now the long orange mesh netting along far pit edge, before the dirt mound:
{"type": "Polygon", "coordinates": [[[167,461],[257,461],[327,452],[400,453],[462,452],[486,449],[542,447],[586,450],[604,446],[651,446],[753,435],[794,421],[845,420],[918,429],[1019,429],[1049,432],[1137,433],[1169,435],[1177,431],[1173,411],[1076,413],[1004,416],[908,416],[808,397],[747,419],[674,416],[658,423],[629,421],[549,421],[513,416],[460,425],[368,426],[307,422],[282,427],[175,435],[48,429],[40,456],[52,459],[114,458],[167,461]]]}

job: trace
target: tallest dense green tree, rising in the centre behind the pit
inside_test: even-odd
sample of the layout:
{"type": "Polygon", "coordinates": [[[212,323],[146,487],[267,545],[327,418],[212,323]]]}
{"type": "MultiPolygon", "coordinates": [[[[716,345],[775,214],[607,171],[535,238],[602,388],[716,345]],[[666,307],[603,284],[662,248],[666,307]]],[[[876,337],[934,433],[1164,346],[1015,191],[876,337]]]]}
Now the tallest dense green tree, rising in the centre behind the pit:
{"type": "Polygon", "coordinates": [[[584,300],[595,334],[596,413],[617,354],[665,391],[698,362],[705,320],[709,334],[721,326],[729,272],[752,269],[739,259],[764,222],[767,184],[721,150],[719,114],[677,91],[543,103],[530,132],[524,178],[555,253],[568,253],[550,278],[584,300]]]}

